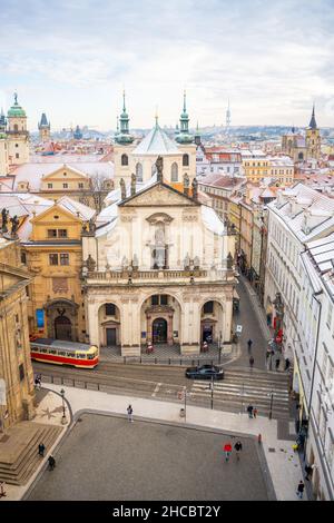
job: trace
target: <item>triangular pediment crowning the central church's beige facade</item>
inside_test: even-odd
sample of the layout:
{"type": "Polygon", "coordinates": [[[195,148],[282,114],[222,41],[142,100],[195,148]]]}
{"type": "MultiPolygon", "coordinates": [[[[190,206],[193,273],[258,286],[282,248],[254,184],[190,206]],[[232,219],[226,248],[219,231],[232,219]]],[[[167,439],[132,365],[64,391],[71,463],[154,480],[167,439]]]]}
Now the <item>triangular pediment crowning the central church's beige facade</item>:
{"type": "Polygon", "coordinates": [[[156,184],[119,205],[121,207],[197,207],[199,204],[166,184],[156,184]]]}

